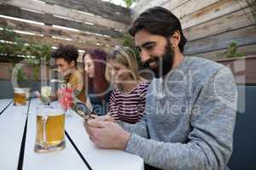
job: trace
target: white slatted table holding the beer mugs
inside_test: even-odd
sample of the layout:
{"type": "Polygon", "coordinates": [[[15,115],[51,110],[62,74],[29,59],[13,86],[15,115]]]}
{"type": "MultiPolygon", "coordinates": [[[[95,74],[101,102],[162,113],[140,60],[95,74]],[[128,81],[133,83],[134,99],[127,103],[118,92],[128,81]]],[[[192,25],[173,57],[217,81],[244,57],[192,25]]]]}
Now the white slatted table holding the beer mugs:
{"type": "Polygon", "coordinates": [[[38,99],[25,106],[0,100],[0,169],[24,170],[143,170],[143,159],[122,150],[96,148],[84,130],[83,119],[73,113],[66,116],[66,148],[38,154],[33,150],[36,135],[38,99]]]}

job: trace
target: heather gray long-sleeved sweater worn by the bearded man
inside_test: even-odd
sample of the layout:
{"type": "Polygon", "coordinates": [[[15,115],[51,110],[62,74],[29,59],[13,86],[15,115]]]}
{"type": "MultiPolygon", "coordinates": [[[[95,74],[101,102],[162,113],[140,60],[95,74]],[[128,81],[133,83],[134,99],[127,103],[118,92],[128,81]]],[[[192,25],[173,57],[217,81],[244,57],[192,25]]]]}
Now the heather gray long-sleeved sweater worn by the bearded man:
{"type": "Polygon", "coordinates": [[[236,84],[230,69],[185,57],[164,78],[151,82],[146,115],[131,125],[126,151],[162,169],[225,169],[232,154],[236,84]]]}

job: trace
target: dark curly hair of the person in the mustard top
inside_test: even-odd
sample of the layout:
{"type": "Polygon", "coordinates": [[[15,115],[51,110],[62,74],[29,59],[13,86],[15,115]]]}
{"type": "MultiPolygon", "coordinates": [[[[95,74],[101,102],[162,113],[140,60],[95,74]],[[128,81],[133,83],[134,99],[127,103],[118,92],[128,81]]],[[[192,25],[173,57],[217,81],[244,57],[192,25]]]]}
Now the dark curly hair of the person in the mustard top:
{"type": "Polygon", "coordinates": [[[77,65],[77,60],[79,58],[79,50],[73,45],[62,45],[60,44],[58,48],[52,51],[51,57],[53,59],[64,59],[68,63],[74,61],[77,65]]]}

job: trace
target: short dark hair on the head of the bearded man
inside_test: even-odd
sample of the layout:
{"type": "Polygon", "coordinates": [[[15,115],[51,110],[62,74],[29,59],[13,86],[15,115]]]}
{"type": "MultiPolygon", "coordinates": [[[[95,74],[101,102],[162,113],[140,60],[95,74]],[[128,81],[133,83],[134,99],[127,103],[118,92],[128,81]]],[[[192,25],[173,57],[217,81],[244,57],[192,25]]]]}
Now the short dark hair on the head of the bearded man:
{"type": "Polygon", "coordinates": [[[171,11],[162,7],[148,8],[133,22],[129,33],[134,37],[138,31],[143,29],[150,34],[164,37],[170,37],[175,31],[179,31],[181,40],[178,44],[178,48],[183,53],[183,48],[187,40],[183,35],[180,21],[171,11]]]}

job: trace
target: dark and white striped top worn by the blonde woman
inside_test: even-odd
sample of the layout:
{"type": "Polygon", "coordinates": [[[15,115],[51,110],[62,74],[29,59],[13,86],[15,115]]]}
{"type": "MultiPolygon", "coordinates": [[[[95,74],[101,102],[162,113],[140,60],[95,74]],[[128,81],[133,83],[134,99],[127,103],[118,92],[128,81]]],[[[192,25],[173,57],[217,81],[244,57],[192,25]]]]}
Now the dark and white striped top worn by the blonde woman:
{"type": "Polygon", "coordinates": [[[140,82],[129,94],[114,89],[109,99],[109,113],[116,120],[137,123],[143,117],[148,82],[140,82]]]}

